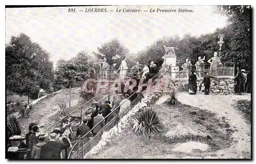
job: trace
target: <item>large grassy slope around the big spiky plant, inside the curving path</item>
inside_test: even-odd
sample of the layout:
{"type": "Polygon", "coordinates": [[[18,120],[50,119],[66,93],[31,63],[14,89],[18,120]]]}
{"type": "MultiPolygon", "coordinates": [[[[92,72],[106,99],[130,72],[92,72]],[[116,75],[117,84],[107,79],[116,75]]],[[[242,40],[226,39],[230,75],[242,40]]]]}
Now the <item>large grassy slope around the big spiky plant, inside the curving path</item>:
{"type": "Polygon", "coordinates": [[[131,122],[128,129],[112,138],[111,144],[88,158],[216,156],[216,150],[231,146],[231,134],[236,129],[231,129],[225,119],[218,118],[215,113],[184,104],[163,103],[153,105],[152,108],[159,113],[160,121],[164,125],[160,134],[155,134],[151,140],[145,139],[145,136],[134,133],[131,122]],[[177,144],[189,141],[208,144],[210,149],[203,153],[201,151],[190,153],[172,151],[177,144]]]}

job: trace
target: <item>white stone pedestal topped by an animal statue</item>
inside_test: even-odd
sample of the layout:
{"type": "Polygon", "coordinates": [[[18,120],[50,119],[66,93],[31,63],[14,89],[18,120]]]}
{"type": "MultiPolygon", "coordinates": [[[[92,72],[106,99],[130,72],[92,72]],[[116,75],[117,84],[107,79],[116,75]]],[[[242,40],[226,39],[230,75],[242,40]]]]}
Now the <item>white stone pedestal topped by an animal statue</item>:
{"type": "MultiPolygon", "coordinates": [[[[166,46],[164,46],[164,48],[166,51],[166,46]]],[[[170,48],[173,48],[173,47],[170,47],[170,48]]],[[[162,59],[166,59],[166,64],[168,64],[169,66],[172,66],[170,68],[171,72],[172,72],[172,74],[170,76],[172,78],[176,78],[176,75],[179,73],[179,67],[176,66],[176,55],[174,52],[174,48],[172,49],[172,51],[166,51],[165,55],[162,57],[162,59]]]]}

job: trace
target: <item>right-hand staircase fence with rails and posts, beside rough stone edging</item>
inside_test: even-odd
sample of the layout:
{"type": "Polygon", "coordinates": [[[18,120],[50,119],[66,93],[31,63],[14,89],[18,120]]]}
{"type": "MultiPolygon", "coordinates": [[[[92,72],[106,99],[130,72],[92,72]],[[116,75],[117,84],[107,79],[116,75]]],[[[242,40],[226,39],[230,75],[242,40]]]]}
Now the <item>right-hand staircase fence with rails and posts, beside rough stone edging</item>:
{"type": "MultiPolygon", "coordinates": [[[[166,66],[167,67],[167,66],[166,66]]],[[[143,87],[145,87],[146,85],[148,85],[148,82],[151,82],[151,85],[149,86],[149,88],[151,89],[151,87],[156,84],[155,82],[152,83],[152,81],[154,79],[157,78],[157,76],[162,76],[163,74],[161,74],[163,72],[166,73],[165,69],[162,69],[160,72],[158,72],[154,77],[152,77],[150,80],[147,81],[147,83],[143,84],[142,86],[140,86],[140,88],[138,88],[138,90],[136,90],[131,96],[129,96],[129,98],[126,99],[126,101],[128,101],[129,99],[131,99],[135,94],[137,95],[137,97],[135,98],[135,100],[133,100],[131,102],[131,105],[127,108],[125,108],[125,110],[123,110],[121,113],[117,112],[117,115],[109,122],[107,123],[91,140],[89,140],[89,142],[87,142],[86,144],[84,144],[84,140],[83,138],[86,137],[87,135],[89,135],[93,129],[95,127],[97,127],[97,125],[99,125],[102,121],[104,121],[105,119],[108,119],[108,117],[113,113],[116,112],[122,104],[124,104],[126,101],[122,102],[121,104],[119,104],[119,106],[117,106],[115,109],[113,109],[108,115],[105,116],[105,118],[103,120],[101,120],[98,124],[96,124],[88,133],[86,133],[83,136],[78,136],[78,140],[75,143],[75,145],[72,147],[68,158],[83,158],[84,154],[89,152],[91,150],[91,148],[95,145],[97,145],[98,141],[101,139],[101,135],[103,133],[104,130],[108,129],[110,126],[113,126],[113,123],[115,122],[115,125],[118,126],[118,121],[121,118],[121,116],[123,116],[124,114],[126,114],[126,112],[132,107],[134,106],[138,100],[142,100],[143,95],[146,93],[147,89],[143,92],[143,87]],[[139,95],[137,93],[140,93],[139,95]],[[76,150],[76,151],[73,151],[76,150]]]]}

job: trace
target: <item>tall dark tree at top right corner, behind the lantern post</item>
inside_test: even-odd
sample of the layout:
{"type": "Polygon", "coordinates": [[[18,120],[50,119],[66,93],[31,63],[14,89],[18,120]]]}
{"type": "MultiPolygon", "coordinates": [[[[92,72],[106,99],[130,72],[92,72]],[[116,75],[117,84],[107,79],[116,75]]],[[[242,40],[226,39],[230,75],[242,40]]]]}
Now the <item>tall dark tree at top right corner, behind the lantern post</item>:
{"type": "Polygon", "coordinates": [[[219,13],[228,16],[230,23],[226,27],[226,34],[229,33],[230,38],[228,38],[229,50],[226,51],[225,60],[234,62],[241,68],[251,69],[250,6],[217,6],[216,8],[219,13]]]}

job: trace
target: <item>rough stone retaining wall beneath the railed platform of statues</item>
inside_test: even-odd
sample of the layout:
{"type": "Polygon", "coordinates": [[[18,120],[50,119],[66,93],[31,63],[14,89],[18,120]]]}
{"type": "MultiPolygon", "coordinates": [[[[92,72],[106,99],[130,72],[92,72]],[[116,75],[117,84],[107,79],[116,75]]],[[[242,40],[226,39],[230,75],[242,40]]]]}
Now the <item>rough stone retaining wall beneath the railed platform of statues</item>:
{"type": "MultiPolygon", "coordinates": [[[[234,93],[234,77],[233,76],[218,76],[216,78],[211,78],[210,93],[215,93],[216,95],[229,95],[234,93]]],[[[203,78],[198,78],[198,91],[199,85],[203,81],[203,78]]],[[[162,78],[158,90],[163,92],[170,92],[174,88],[179,91],[186,91],[188,85],[188,79],[170,79],[162,78]]],[[[202,84],[201,91],[204,90],[204,84],[202,84]]]]}

